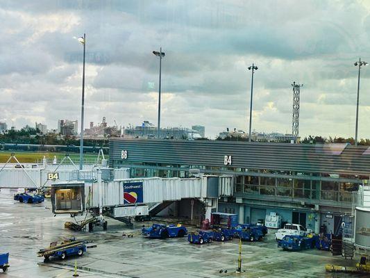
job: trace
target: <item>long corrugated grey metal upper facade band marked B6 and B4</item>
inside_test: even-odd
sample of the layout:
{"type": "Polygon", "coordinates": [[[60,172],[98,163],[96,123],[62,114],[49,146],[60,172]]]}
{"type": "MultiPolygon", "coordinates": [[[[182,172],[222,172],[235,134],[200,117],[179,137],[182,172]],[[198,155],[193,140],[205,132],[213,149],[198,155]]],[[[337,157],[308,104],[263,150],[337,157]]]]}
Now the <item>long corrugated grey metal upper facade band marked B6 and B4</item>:
{"type": "Polygon", "coordinates": [[[168,165],[208,165],[226,167],[224,156],[231,156],[229,167],[255,170],[370,174],[367,147],[347,145],[337,152],[331,145],[187,141],[155,139],[111,139],[112,161],[162,163],[168,165]],[[121,151],[127,158],[121,159],[121,151]]]}

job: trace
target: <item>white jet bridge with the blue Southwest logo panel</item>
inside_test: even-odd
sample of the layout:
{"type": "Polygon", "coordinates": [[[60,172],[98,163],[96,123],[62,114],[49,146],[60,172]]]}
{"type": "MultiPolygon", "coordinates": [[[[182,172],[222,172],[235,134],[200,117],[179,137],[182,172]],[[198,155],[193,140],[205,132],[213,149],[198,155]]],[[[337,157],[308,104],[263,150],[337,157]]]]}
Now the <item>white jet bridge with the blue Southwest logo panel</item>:
{"type": "MultiPolygon", "coordinates": [[[[115,179],[108,169],[97,170],[97,181],[92,183],[73,182],[62,184],[56,183],[51,186],[52,195],[63,189],[75,190],[68,196],[85,196],[85,206],[80,204],[81,210],[76,208],[60,207],[63,202],[55,202],[53,213],[71,213],[76,215],[83,213],[85,208],[94,216],[103,218],[108,215],[112,218],[133,217],[135,215],[148,215],[150,208],[158,207],[159,204],[180,201],[182,199],[199,199],[205,205],[205,217],[210,218],[212,208],[217,210],[219,197],[227,197],[233,193],[232,176],[208,176],[194,177],[189,179],[180,178],[140,178],[140,179],[115,179]]],[[[67,195],[63,195],[66,197],[67,195]]],[[[80,197],[80,202],[83,198],[80,197]]],[[[53,199],[52,199],[53,200],[53,199]]],[[[69,204],[69,202],[67,202],[69,204]]],[[[72,203],[71,203],[72,204],[72,203]]]]}

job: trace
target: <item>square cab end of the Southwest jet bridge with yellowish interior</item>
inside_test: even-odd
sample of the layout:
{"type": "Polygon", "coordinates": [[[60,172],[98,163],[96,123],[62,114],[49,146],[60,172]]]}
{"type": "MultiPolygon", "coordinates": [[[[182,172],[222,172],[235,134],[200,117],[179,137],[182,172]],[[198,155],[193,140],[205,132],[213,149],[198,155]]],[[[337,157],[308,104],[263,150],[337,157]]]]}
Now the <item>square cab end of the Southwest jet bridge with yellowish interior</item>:
{"type": "Polygon", "coordinates": [[[53,213],[83,213],[85,211],[85,183],[65,182],[51,184],[53,213]]]}

